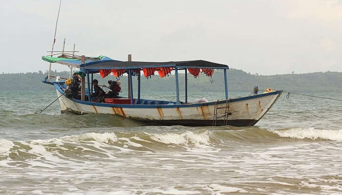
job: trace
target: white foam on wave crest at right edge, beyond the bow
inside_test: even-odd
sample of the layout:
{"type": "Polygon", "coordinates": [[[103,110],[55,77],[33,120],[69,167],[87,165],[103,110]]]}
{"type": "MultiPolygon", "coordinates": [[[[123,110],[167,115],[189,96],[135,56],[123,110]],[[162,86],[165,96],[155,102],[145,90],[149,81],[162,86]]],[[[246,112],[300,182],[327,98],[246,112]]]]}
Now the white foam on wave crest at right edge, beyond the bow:
{"type": "Polygon", "coordinates": [[[270,130],[280,137],[292,137],[298,139],[328,139],[333,141],[342,141],[342,130],[325,130],[315,128],[294,128],[289,130],[270,130]]]}

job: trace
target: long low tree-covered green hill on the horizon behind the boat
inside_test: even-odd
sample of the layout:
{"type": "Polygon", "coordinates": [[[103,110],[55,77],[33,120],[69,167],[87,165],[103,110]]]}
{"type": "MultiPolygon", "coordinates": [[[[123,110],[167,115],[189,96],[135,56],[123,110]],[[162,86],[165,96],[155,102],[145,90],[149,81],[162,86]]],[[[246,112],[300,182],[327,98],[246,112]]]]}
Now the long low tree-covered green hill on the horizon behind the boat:
{"type": "MultiPolygon", "coordinates": [[[[52,75],[68,78],[69,73],[53,72],[52,75]]],[[[0,90],[41,90],[46,88],[42,82],[47,73],[18,73],[18,74],[0,74],[0,90]]],[[[307,74],[286,74],[258,76],[251,75],[242,70],[229,69],[227,71],[229,91],[233,92],[250,92],[254,86],[259,89],[281,89],[292,92],[342,92],[342,73],[341,72],[319,72],[307,74]]],[[[179,74],[179,87],[184,90],[184,74],[179,74]]],[[[102,79],[99,74],[95,74],[94,78],[100,81],[100,84],[107,84],[108,79],[114,79],[113,76],[107,76],[102,79]]],[[[54,80],[54,79],[53,79],[54,80]]],[[[127,89],[127,77],[121,77],[122,89],[127,89]]],[[[136,89],[136,77],[133,78],[134,89],[136,89]]],[[[51,86],[52,87],[52,86],[51,86]]],[[[175,77],[170,75],[166,78],[152,76],[152,78],[141,78],[142,91],[174,91],[175,77]]],[[[188,74],[188,90],[189,92],[208,91],[218,92],[224,91],[224,78],[222,70],[215,70],[212,78],[200,74],[199,78],[193,78],[188,74]]]]}

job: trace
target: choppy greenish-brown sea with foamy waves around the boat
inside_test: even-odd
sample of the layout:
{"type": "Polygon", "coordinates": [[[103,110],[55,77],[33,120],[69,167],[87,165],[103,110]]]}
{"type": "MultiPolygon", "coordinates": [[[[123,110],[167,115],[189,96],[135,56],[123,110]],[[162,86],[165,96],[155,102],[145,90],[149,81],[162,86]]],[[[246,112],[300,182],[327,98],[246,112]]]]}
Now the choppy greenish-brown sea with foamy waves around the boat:
{"type": "Polygon", "coordinates": [[[57,98],[53,87],[1,91],[0,194],[341,195],[342,102],[286,95],[252,127],[185,127],[61,114],[58,101],[37,114],[57,98]]]}

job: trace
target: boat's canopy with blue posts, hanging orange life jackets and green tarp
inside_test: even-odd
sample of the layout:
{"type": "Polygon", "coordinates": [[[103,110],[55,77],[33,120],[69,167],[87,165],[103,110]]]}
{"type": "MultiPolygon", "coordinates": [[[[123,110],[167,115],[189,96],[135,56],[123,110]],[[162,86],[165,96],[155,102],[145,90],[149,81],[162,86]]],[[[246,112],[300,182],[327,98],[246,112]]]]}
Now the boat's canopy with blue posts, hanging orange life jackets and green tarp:
{"type": "MultiPolygon", "coordinates": [[[[122,76],[124,73],[128,74],[129,80],[129,93],[130,103],[133,104],[133,91],[132,91],[132,76],[138,77],[138,101],[140,101],[140,75],[141,71],[144,73],[144,77],[151,78],[154,72],[158,71],[160,77],[165,77],[171,74],[171,71],[175,72],[176,81],[176,103],[180,104],[179,101],[179,84],[178,84],[178,70],[185,70],[185,102],[187,103],[187,71],[192,74],[195,78],[198,77],[200,71],[206,76],[212,77],[214,69],[223,69],[224,80],[225,80],[225,93],[226,99],[228,99],[228,85],[227,85],[227,69],[228,65],[214,63],[205,60],[189,60],[189,61],[167,61],[167,62],[148,62],[148,61],[119,61],[110,59],[106,56],[99,57],[85,57],[77,56],[74,54],[53,54],[49,56],[43,56],[43,60],[51,63],[64,64],[70,67],[80,68],[80,71],[87,75],[88,89],[90,88],[89,75],[91,75],[91,81],[93,80],[93,73],[100,73],[102,78],[112,73],[116,78],[122,76]],[[60,55],[60,56],[58,56],[60,55]],[[53,57],[58,56],[58,57],[53,57]],[[82,63],[84,62],[84,63],[82,63]]],[[[72,71],[71,71],[72,72],[72,71]]],[[[71,77],[70,72],[70,77],[71,77]]],[[[49,76],[48,76],[49,79],[49,76]]],[[[85,100],[85,79],[82,79],[83,89],[81,90],[82,100],[85,100]]],[[[88,90],[88,101],[90,101],[90,90],[88,90]]]]}

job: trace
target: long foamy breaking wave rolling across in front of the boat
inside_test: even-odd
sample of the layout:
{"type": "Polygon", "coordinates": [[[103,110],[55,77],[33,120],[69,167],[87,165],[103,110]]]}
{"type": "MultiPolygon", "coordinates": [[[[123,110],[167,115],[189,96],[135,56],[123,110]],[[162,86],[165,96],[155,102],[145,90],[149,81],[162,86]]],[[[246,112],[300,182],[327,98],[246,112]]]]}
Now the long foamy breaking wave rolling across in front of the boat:
{"type": "Polygon", "coordinates": [[[283,139],[342,141],[342,130],[291,128],[267,130],[250,127],[239,130],[216,130],[215,127],[195,131],[150,133],[141,131],[114,131],[84,133],[46,140],[15,141],[0,139],[0,159],[12,156],[111,156],[112,153],[154,153],[183,151],[194,148],[219,150],[240,148],[246,142],[281,142],[283,139]],[[211,129],[212,128],[212,129],[211,129]],[[43,151],[43,152],[42,152],[43,151]]]}

